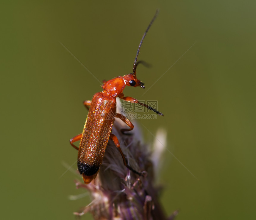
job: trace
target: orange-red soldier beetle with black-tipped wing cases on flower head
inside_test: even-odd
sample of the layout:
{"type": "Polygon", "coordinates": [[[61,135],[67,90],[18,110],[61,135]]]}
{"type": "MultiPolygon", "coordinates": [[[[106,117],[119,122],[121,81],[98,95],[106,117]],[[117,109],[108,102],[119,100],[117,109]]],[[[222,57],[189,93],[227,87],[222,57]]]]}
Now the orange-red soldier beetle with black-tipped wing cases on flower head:
{"type": "Polygon", "coordinates": [[[79,134],[70,139],[70,144],[78,150],[77,167],[79,173],[82,174],[85,184],[90,183],[97,176],[109,139],[113,140],[119,149],[119,152],[123,158],[124,165],[138,175],[143,174],[143,172],[139,173],[127,164],[124,154],[120,148],[120,143],[117,137],[111,133],[111,129],[116,117],[121,119],[130,127],[122,129],[122,132],[130,131],[134,127],[132,122],[130,122],[130,120],[127,119],[124,115],[116,113],[117,97],[127,102],[138,103],[139,105],[145,106],[149,110],[152,110],[159,115],[163,115],[161,112],[144,103],[139,102],[135,98],[129,96],[125,97],[123,93],[125,86],[140,86],[143,89],[145,88],[144,84],[138,80],[136,76],[136,67],[139,63],[137,62],[137,59],[143,39],[145,38],[153,21],[157,17],[157,14],[158,11],[149,23],[149,26],[147,27],[141,39],[133,64],[133,72],[124,76],[117,76],[116,78],[110,79],[109,81],[105,81],[102,85],[102,92],[96,93],[93,96],[92,101],[84,101],[85,107],[89,110],[85,126],[82,134],[79,134]],[[79,148],[73,144],[76,141],[80,141],[79,148]]]}

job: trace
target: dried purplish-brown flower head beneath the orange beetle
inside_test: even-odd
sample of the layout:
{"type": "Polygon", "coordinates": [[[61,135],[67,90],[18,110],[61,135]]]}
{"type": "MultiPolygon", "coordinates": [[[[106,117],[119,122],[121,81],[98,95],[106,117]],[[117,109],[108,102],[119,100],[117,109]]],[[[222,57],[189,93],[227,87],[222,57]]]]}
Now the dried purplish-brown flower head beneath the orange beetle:
{"type": "Polygon", "coordinates": [[[115,120],[112,133],[118,138],[128,164],[134,170],[145,171],[145,175],[138,176],[124,166],[117,147],[109,141],[98,176],[87,185],[76,182],[77,188],[89,190],[92,202],[75,214],[90,212],[94,219],[173,219],[177,211],[166,217],[154,186],[153,164],[159,162],[161,150],[157,149],[158,157],[152,158],[152,162],[138,125],[129,135],[120,131],[125,126],[121,120],[115,120]]]}

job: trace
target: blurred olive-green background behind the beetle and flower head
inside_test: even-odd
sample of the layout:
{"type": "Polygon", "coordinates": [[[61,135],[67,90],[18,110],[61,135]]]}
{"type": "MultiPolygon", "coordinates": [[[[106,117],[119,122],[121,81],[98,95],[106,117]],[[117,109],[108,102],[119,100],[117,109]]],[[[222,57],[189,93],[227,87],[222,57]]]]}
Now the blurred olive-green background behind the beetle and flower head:
{"type": "Polygon", "coordinates": [[[63,164],[77,157],[68,141],[85,123],[82,101],[102,89],[60,42],[100,81],[128,74],[157,8],[139,55],[152,64],[137,71],[146,89],[124,94],[158,101],[165,116],[139,123],[153,134],[166,129],[167,148],[196,176],[164,152],[158,182],[166,213],[255,219],[255,7],[255,1],[2,3],[1,219],[75,219],[73,212],[90,202],[68,199],[85,191],[75,189],[74,173],[62,176],[63,164]]]}

